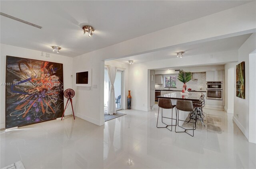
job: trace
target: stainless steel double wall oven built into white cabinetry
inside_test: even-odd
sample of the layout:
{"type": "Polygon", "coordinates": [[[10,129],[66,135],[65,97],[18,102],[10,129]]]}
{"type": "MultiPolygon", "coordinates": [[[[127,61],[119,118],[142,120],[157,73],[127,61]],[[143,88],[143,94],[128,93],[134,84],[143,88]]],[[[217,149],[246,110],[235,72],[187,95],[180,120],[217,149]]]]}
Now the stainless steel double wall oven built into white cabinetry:
{"type": "Polygon", "coordinates": [[[222,81],[207,82],[206,99],[214,99],[214,100],[223,99],[222,81]]]}

